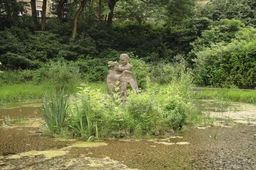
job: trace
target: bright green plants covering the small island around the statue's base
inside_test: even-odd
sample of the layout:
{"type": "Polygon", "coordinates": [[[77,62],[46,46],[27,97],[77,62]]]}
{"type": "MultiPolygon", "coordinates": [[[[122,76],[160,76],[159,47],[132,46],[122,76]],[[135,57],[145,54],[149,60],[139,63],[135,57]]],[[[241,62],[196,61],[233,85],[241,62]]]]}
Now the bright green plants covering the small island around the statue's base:
{"type": "MultiPolygon", "coordinates": [[[[52,133],[62,133],[81,137],[111,138],[125,135],[142,137],[145,135],[163,135],[172,129],[180,130],[186,117],[192,113],[193,106],[189,103],[191,96],[190,73],[183,73],[166,87],[153,86],[141,94],[130,94],[126,102],[118,95],[113,97],[103,94],[100,89],[92,89],[86,85],[69,98],[67,116],[61,131],[52,131],[51,126],[59,122],[59,113],[51,109],[47,127],[52,133]],[[54,116],[56,115],[56,116],[54,116]]],[[[44,108],[61,98],[51,101],[44,100],[44,108]]],[[[63,104],[64,106],[64,104],[63,104]]],[[[44,115],[49,115],[43,109],[44,115]]],[[[60,126],[59,126],[60,127],[60,126]]]]}

